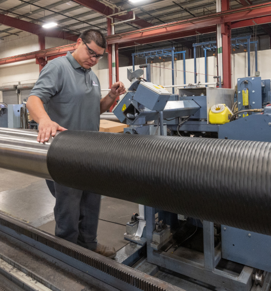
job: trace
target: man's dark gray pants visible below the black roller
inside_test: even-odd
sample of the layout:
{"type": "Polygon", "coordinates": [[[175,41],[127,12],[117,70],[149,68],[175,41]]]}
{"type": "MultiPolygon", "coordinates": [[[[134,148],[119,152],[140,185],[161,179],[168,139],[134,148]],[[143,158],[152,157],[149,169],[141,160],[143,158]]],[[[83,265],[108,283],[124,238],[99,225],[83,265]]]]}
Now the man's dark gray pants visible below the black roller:
{"type": "Polygon", "coordinates": [[[90,250],[97,246],[97,227],[101,196],[46,180],[56,198],[55,235],[90,250]]]}

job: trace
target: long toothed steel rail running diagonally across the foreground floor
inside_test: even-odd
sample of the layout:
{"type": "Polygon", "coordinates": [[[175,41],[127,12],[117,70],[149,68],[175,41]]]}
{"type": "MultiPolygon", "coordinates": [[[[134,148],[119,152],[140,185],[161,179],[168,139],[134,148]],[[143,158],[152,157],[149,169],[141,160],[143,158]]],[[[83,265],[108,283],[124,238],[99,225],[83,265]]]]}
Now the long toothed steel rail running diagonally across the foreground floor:
{"type": "Polygon", "coordinates": [[[0,213],[0,231],[121,291],[185,291],[3,213],[0,213]]]}

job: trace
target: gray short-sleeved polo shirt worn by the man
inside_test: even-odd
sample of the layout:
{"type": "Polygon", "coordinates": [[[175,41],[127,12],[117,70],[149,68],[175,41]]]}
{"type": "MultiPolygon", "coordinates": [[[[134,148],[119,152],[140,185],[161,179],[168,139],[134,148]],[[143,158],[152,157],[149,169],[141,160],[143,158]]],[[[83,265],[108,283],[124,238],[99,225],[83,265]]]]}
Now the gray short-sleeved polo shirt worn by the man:
{"type": "Polygon", "coordinates": [[[101,88],[95,73],[83,69],[71,53],[56,58],[41,71],[30,96],[60,126],[72,130],[99,130],[101,88]]]}

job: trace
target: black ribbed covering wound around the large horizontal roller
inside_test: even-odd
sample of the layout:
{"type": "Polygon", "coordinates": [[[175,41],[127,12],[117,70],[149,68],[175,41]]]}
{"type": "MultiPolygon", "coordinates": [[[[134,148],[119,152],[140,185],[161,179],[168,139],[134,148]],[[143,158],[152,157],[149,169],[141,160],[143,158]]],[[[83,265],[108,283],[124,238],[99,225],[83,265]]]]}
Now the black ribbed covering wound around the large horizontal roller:
{"type": "Polygon", "coordinates": [[[271,143],[64,131],[47,157],[59,184],[271,235],[271,143]]]}

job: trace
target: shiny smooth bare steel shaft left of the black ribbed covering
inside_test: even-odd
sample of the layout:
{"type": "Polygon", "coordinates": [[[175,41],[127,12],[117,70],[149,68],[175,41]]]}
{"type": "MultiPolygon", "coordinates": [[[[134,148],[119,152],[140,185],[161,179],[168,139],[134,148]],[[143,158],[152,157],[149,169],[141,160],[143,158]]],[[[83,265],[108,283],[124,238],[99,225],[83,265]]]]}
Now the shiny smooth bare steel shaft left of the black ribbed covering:
{"type": "Polygon", "coordinates": [[[38,130],[0,127],[0,168],[53,180],[47,169],[48,142],[37,141],[38,130]]]}

